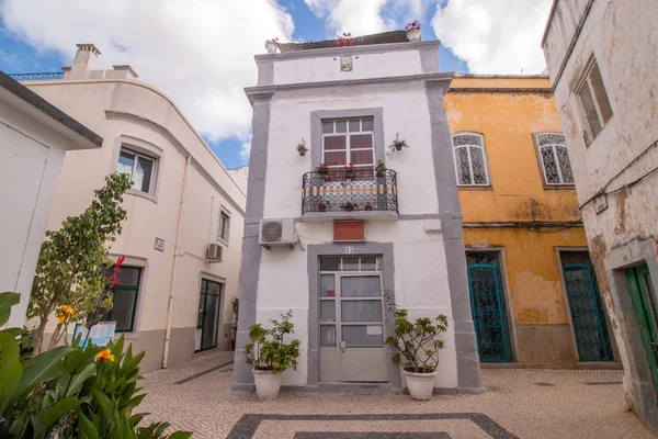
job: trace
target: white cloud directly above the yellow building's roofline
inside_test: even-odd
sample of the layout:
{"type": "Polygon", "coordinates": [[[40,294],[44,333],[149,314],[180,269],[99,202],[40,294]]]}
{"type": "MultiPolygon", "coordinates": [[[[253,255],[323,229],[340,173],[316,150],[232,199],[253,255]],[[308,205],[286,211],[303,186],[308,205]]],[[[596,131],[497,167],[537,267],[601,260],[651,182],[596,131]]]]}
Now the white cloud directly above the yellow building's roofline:
{"type": "Polygon", "coordinates": [[[473,74],[541,74],[540,46],[552,0],[450,0],[434,33],[473,74]]]}

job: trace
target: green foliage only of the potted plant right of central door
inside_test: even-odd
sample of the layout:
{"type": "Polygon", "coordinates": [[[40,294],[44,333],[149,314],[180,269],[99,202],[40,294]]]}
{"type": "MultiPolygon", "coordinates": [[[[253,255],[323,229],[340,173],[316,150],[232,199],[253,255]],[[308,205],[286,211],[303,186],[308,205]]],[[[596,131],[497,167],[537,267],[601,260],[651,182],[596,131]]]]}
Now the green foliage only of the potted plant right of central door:
{"type": "Polygon", "coordinates": [[[439,350],[443,348],[443,340],[438,337],[447,330],[447,317],[439,314],[434,320],[418,317],[411,322],[407,309],[398,308],[389,292],[385,292],[384,296],[388,311],[395,316],[395,336],[386,339],[386,345],[397,349],[393,361],[407,372],[434,372],[439,364],[439,350]]]}

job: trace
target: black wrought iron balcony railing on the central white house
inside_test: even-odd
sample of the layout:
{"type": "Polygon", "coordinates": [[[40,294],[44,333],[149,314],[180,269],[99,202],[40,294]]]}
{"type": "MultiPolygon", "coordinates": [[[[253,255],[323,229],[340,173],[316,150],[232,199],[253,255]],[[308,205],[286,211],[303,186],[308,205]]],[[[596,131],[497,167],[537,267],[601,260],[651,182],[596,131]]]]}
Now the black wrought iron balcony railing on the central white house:
{"type": "Polygon", "coordinates": [[[306,172],[302,181],[302,214],[309,212],[398,212],[397,176],[392,169],[306,172]]]}

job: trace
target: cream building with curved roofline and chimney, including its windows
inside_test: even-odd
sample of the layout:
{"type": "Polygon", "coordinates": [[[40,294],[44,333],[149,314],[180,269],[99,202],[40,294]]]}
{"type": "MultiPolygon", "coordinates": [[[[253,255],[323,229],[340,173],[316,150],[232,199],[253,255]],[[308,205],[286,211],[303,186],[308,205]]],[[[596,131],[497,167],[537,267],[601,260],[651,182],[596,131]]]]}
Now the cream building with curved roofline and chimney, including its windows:
{"type": "Polygon", "coordinates": [[[245,193],[167,95],[129,66],[97,70],[99,50],[78,48],[64,78],[24,82],[104,138],[66,157],[48,228],[82,212],[106,175],[129,173],[127,221],[111,247],[126,260],[109,318],[146,350],[143,371],[229,349],[245,193]]]}

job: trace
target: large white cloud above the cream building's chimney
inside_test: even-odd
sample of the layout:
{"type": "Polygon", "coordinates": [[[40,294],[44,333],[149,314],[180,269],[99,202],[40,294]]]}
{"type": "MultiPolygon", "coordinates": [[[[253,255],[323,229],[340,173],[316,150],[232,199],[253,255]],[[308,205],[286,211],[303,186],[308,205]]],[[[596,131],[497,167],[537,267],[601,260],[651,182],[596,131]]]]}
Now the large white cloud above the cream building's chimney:
{"type": "Polygon", "coordinates": [[[273,0],[2,0],[0,14],[32,46],[59,52],[64,65],[77,43],[99,47],[99,68],[129,64],[211,140],[249,138],[242,88],[256,85],[253,55],[294,29],[273,0]]]}

